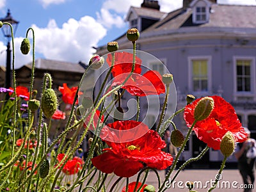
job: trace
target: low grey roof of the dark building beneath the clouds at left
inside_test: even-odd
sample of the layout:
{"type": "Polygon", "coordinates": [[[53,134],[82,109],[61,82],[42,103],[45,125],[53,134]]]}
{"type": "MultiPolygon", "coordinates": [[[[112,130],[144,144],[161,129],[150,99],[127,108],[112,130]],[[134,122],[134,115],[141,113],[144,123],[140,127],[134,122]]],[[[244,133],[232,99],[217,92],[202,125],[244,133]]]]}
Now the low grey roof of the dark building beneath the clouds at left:
{"type": "MultiPolygon", "coordinates": [[[[32,68],[32,62],[25,65],[28,68],[32,68]]],[[[55,70],[55,71],[66,71],[66,72],[78,72],[84,73],[84,67],[79,63],[70,63],[66,61],[55,61],[38,59],[35,61],[35,68],[43,70],[55,70]]]]}

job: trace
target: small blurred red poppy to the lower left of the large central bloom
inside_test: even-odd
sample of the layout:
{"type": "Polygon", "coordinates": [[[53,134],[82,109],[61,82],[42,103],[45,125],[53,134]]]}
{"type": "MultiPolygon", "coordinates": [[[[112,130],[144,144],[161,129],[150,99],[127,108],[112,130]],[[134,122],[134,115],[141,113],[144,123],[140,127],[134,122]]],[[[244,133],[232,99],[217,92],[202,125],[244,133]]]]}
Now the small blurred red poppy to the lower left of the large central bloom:
{"type": "MultiPolygon", "coordinates": [[[[57,160],[59,161],[59,163],[64,156],[65,154],[58,154],[57,160]]],[[[72,160],[67,161],[67,163],[63,166],[62,172],[66,175],[74,175],[79,170],[81,170],[82,164],[84,164],[83,159],[81,159],[80,157],[74,157],[72,160]]]]}

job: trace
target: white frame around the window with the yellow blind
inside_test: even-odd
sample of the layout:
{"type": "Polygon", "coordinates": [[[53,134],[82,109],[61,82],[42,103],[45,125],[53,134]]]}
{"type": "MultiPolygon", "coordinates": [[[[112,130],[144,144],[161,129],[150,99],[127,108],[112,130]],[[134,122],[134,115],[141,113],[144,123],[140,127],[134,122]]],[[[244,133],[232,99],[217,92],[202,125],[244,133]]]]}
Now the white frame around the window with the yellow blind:
{"type": "Polygon", "coordinates": [[[211,56],[189,56],[188,57],[188,90],[195,96],[209,95],[212,92],[212,57],[211,56]],[[207,60],[207,91],[196,92],[193,90],[193,60],[207,60]]]}

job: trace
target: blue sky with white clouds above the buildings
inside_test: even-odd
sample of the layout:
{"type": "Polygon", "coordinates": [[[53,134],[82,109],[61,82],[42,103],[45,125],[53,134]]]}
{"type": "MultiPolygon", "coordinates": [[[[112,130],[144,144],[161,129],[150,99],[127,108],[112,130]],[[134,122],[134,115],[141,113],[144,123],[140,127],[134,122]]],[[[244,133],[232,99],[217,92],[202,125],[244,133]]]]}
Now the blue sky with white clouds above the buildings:
{"type": "MultiPolygon", "coordinates": [[[[130,6],[140,7],[143,0],[0,0],[0,18],[10,9],[19,21],[15,33],[15,68],[32,61],[24,56],[20,44],[27,30],[35,31],[35,59],[88,63],[93,47],[106,45],[129,28],[125,16],[130,6]]],[[[220,4],[256,5],[256,0],[218,0],[220,4]]],[[[182,6],[182,0],[159,0],[162,12],[182,6]]],[[[0,65],[6,65],[7,40],[0,33],[0,65]]],[[[32,32],[29,31],[32,43],[32,32]]],[[[31,44],[32,46],[32,44],[31,44]]]]}

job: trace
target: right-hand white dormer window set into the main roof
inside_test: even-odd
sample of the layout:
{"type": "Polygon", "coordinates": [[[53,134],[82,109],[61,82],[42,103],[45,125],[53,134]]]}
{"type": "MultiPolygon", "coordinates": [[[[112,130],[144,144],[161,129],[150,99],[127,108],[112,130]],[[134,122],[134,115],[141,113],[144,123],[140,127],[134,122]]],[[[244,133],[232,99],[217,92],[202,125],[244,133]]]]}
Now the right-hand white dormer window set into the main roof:
{"type": "Polygon", "coordinates": [[[193,10],[193,23],[203,24],[209,20],[211,3],[207,0],[195,0],[190,4],[193,10]]]}

